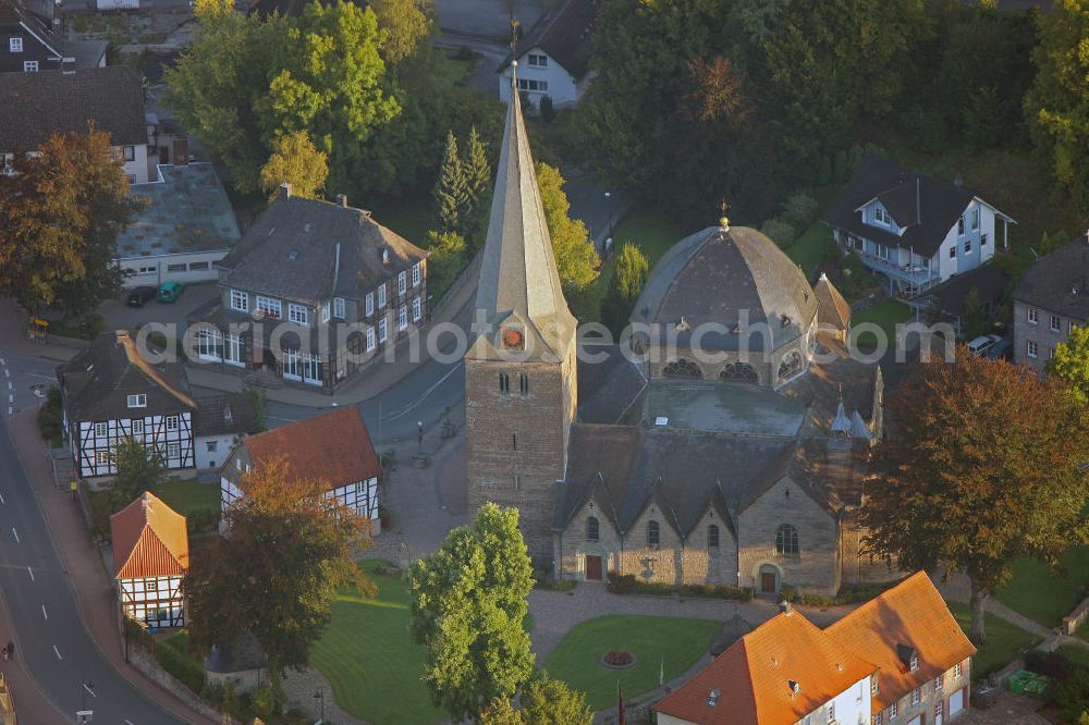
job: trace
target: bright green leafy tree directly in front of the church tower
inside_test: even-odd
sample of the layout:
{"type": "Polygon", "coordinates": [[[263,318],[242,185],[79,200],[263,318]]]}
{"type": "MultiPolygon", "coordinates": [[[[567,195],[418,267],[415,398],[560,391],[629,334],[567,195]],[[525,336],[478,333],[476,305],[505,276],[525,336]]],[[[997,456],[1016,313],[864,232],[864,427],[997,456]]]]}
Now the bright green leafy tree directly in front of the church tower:
{"type": "Polygon", "coordinates": [[[533,674],[523,627],[533,567],[516,508],[488,503],[408,572],[412,634],[424,681],[455,721],[510,698],[533,674]]]}

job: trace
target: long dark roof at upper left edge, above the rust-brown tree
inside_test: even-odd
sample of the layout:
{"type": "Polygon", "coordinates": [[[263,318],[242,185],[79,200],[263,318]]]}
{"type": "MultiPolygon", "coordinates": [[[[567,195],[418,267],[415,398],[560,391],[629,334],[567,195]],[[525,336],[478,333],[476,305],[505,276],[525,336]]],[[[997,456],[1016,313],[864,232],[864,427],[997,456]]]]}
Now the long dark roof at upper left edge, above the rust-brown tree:
{"type": "Polygon", "coordinates": [[[87,133],[88,121],[114,146],[146,144],[139,74],[123,65],[0,73],[0,149],[33,150],[53,133],[87,133]]]}

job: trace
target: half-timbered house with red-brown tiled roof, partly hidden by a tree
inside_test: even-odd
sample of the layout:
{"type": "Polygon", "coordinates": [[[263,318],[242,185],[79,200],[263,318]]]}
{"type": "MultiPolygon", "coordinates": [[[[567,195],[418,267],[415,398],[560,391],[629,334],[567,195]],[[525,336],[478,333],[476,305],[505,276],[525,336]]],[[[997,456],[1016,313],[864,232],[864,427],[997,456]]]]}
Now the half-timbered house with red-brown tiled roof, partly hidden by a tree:
{"type": "MultiPolygon", "coordinates": [[[[359,408],[338,408],[264,433],[248,435],[220,469],[220,509],[245,495],[246,475],[278,460],[291,479],[322,481],[326,497],[356,512],[380,530],[378,477],[381,466],[359,408]]],[[[221,524],[225,527],[225,520],[221,524]]]]}

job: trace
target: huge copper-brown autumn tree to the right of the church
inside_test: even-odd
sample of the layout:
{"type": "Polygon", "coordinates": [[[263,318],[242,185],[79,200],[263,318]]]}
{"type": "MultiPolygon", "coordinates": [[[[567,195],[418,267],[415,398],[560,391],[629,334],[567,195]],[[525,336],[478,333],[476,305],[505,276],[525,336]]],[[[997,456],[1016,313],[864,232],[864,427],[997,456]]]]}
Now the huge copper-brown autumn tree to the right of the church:
{"type": "Polygon", "coordinates": [[[1033,556],[1057,567],[1089,537],[1089,416],[1059,380],[957,348],[918,364],[885,407],[878,478],[866,490],[866,543],[901,568],[965,573],[971,639],[983,602],[1033,556]]]}

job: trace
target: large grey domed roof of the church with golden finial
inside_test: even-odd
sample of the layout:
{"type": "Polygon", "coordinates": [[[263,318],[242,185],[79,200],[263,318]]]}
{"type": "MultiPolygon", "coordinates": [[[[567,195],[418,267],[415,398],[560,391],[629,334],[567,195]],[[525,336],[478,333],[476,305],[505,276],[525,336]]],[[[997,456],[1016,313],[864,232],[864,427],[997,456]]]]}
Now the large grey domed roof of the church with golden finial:
{"type": "Polygon", "coordinates": [[[746,226],[709,226],[681,239],[654,266],[632,322],[673,327],[682,345],[699,325],[717,323],[726,332],[702,334],[702,347],[737,349],[747,340],[748,349],[762,351],[764,335],[757,330],[763,324],[770,349],[778,349],[808,330],[816,315],[812,287],[774,242],[746,226]]]}

